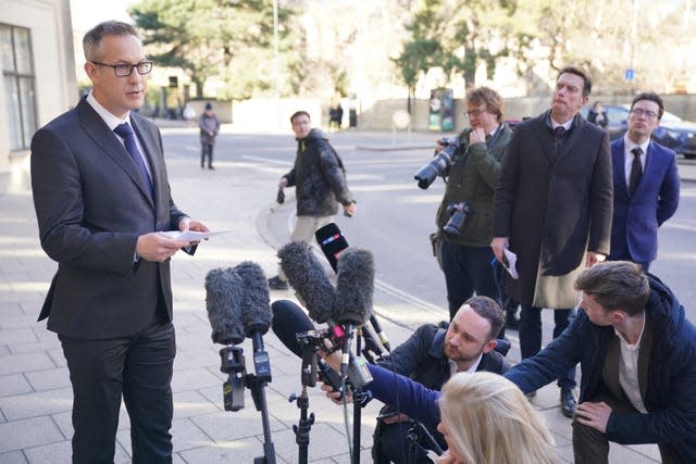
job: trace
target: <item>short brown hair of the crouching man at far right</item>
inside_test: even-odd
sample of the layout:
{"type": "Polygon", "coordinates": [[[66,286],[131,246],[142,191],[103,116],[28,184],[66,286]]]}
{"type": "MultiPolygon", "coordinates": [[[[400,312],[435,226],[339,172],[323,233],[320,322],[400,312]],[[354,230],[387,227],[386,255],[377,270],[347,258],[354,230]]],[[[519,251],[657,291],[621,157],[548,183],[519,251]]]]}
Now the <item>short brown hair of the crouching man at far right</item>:
{"type": "Polygon", "coordinates": [[[584,269],[575,289],[591,294],[606,311],[622,310],[635,316],[645,310],[650,284],[643,268],[629,261],[605,261],[584,269]]]}

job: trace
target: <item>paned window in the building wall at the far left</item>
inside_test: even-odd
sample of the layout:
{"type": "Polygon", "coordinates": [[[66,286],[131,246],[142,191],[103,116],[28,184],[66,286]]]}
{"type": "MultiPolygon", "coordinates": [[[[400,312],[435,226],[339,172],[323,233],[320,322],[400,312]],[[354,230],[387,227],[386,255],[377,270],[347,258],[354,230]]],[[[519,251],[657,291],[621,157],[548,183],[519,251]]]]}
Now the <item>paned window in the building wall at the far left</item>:
{"type": "Polygon", "coordinates": [[[25,150],[36,131],[36,93],[32,35],[24,27],[0,24],[0,53],[10,150],[25,150]]]}

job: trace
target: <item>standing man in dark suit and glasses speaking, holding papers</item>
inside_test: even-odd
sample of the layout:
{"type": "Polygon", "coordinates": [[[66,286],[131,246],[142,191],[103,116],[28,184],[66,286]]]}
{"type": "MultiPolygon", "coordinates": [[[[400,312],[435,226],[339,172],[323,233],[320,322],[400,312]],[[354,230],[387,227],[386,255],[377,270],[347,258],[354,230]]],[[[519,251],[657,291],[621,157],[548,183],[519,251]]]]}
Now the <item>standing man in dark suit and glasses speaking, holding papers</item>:
{"type": "Polygon", "coordinates": [[[152,68],[135,29],[101,23],[83,47],[90,93],[32,140],[41,247],[58,262],[39,321],[70,369],[73,462],[113,462],[123,397],[133,462],[171,463],[170,259],[195,242],[161,233],[208,228],[174,204],[160,133],[134,112],[152,68]]]}

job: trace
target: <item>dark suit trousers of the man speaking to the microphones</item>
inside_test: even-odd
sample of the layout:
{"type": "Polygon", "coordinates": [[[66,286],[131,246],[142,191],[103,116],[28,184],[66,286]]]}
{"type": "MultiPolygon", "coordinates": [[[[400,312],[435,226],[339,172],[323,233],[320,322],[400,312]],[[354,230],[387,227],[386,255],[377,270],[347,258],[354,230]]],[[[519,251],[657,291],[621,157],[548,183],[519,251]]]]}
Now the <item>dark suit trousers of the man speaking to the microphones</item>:
{"type": "Polygon", "coordinates": [[[73,463],[113,463],[121,400],[130,417],[134,463],[172,462],[172,323],[124,338],[59,335],[73,385],[73,463]]]}

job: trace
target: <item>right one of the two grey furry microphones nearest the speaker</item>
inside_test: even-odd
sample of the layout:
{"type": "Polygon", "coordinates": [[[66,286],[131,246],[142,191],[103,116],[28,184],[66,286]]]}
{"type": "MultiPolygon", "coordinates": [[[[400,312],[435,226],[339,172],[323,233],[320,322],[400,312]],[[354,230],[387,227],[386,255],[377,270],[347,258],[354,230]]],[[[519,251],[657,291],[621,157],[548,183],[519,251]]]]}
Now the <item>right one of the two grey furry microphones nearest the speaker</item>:
{"type": "Polygon", "coordinates": [[[270,306],[269,283],[257,263],[245,261],[233,269],[240,278],[241,321],[245,335],[253,344],[253,367],[259,381],[271,381],[271,362],[263,349],[262,336],[269,331],[273,313],[270,306]]]}

